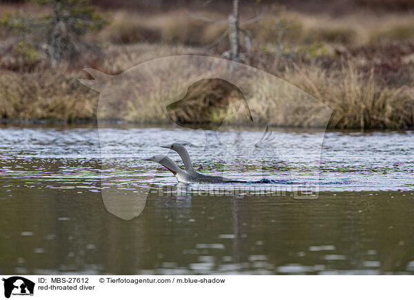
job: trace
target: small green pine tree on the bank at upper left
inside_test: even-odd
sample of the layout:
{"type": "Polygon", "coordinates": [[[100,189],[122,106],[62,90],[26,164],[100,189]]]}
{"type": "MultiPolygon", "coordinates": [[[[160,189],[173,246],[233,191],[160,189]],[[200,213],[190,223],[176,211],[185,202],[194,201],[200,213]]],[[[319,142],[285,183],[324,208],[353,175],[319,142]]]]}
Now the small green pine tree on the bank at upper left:
{"type": "Polygon", "coordinates": [[[48,14],[34,17],[16,12],[6,14],[0,25],[14,41],[12,50],[32,66],[39,61],[41,52],[52,66],[61,61],[74,61],[82,52],[88,51],[88,43],[79,36],[90,30],[99,30],[106,20],[88,6],[86,0],[35,0],[39,6],[48,6],[48,14]]]}

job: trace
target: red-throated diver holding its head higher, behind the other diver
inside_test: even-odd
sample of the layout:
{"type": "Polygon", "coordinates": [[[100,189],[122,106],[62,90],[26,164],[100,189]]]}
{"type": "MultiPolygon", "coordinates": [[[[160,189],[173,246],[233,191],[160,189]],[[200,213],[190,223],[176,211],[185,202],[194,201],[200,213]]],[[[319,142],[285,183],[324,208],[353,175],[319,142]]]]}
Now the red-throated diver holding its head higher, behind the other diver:
{"type": "Polygon", "coordinates": [[[192,178],[195,178],[197,182],[211,182],[211,183],[218,183],[218,182],[244,182],[239,180],[231,180],[228,178],[224,178],[221,176],[210,176],[210,175],[204,175],[201,173],[198,173],[193,168],[193,163],[191,162],[190,155],[188,154],[188,151],[186,147],[184,147],[182,144],[179,144],[175,142],[174,144],[164,144],[161,145],[163,148],[171,149],[178,153],[178,155],[181,157],[181,160],[184,162],[184,167],[186,169],[186,173],[190,175],[192,178]]]}

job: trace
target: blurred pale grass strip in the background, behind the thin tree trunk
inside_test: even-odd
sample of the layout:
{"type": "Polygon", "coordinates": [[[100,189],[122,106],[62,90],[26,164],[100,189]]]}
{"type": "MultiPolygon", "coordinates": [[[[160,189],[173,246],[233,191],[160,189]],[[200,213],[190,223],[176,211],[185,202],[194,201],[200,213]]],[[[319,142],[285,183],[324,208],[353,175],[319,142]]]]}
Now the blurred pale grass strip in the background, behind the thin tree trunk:
{"type": "MultiPolygon", "coordinates": [[[[172,10],[164,14],[141,15],[137,12],[116,12],[112,24],[101,37],[112,43],[168,43],[210,45],[226,31],[226,14],[172,10]],[[219,23],[204,21],[219,20],[219,23]]],[[[242,21],[248,17],[242,16],[242,21]]],[[[262,19],[247,25],[254,46],[279,43],[278,33],[284,30],[288,43],[366,44],[373,41],[404,41],[414,37],[411,14],[355,13],[332,18],[328,15],[307,15],[297,12],[265,12],[262,19]]],[[[242,36],[243,37],[243,36],[242,36]]],[[[222,39],[221,43],[226,43],[222,39]]]]}

